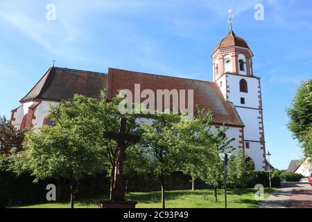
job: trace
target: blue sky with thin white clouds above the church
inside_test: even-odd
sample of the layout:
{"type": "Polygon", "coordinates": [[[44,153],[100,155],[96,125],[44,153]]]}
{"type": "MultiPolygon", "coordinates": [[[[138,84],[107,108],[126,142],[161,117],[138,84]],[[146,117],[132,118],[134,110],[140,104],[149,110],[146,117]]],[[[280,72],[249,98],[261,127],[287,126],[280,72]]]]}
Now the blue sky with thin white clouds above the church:
{"type": "Polygon", "coordinates": [[[300,81],[312,78],[311,1],[1,0],[0,114],[10,110],[56,60],[58,67],[107,72],[108,67],[211,80],[211,53],[233,29],[254,53],[261,77],[266,148],[286,169],[302,157],[286,129],[285,109],[300,81]],[[46,19],[46,5],[56,20],[46,19]],[[254,5],[264,20],[254,19],[254,5]]]}

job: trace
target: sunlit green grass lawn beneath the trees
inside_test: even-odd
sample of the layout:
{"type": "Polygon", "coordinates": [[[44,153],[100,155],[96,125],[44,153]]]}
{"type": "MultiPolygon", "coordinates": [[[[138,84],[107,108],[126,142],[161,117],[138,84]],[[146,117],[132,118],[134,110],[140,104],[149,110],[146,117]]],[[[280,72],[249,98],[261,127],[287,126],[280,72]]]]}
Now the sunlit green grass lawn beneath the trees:
{"type": "MultiPolygon", "coordinates": [[[[264,198],[266,198],[274,188],[266,188],[264,198]]],[[[98,200],[107,199],[107,196],[94,196],[92,198],[77,198],[76,208],[96,208],[98,200]]],[[[158,208],[161,207],[161,196],[159,191],[134,192],[127,195],[128,200],[137,200],[137,208],[158,208]]],[[[229,208],[252,208],[257,207],[260,201],[254,200],[254,189],[228,189],[227,206],[229,208]]],[[[29,205],[22,208],[67,208],[67,203],[42,203],[39,205],[29,205]]],[[[224,191],[218,189],[218,203],[214,202],[213,190],[180,190],[166,191],[167,208],[222,208],[224,207],[224,191]]]]}

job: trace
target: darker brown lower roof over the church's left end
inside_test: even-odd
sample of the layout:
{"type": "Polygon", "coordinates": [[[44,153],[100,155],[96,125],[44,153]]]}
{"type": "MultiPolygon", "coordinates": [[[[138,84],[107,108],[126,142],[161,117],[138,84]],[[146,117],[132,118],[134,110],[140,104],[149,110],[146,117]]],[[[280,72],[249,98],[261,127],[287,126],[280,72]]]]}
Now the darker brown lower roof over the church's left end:
{"type": "Polygon", "coordinates": [[[61,101],[74,94],[99,98],[107,86],[107,74],[51,67],[21,102],[33,99],[61,101]]]}

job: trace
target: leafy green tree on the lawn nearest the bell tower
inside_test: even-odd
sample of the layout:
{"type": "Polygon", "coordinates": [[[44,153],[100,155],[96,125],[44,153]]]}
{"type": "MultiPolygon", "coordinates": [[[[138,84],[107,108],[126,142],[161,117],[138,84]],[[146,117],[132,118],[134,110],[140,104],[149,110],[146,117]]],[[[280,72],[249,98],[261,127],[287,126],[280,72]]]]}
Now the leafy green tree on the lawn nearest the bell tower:
{"type": "Polygon", "coordinates": [[[201,110],[191,121],[179,123],[177,128],[179,139],[179,152],[182,153],[182,171],[204,181],[214,187],[214,198],[217,201],[217,188],[223,183],[223,162],[218,156],[228,148],[234,139],[227,139],[225,127],[211,126],[213,116],[211,112],[201,110]]]}

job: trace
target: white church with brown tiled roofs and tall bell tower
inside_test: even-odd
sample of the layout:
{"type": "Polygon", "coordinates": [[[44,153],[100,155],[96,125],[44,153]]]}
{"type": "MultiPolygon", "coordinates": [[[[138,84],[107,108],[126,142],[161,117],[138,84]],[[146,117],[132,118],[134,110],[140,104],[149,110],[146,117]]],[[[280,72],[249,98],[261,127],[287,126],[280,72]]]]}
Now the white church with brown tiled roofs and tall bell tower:
{"type": "Polygon", "coordinates": [[[254,76],[252,51],[243,38],[229,33],[214,49],[213,81],[176,78],[109,68],[107,74],[51,67],[12,110],[11,122],[19,129],[38,130],[51,124],[46,118],[49,104],[71,99],[74,94],[100,98],[101,91],[112,99],[121,89],[135,92],[151,89],[193,89],[194,108],[211,110],[214,126],[227,126],[228,138],[235,138],[232,146],[243,149],[253,160],[256,169],[266,169],[266,146],[263,129],[263,107],[260,78],[254,76]]]}

